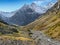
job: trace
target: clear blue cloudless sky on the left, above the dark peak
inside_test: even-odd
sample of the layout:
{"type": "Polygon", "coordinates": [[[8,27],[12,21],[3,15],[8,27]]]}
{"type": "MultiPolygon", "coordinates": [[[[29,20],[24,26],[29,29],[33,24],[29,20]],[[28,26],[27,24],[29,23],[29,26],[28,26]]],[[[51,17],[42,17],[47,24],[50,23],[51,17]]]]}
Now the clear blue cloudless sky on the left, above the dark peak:
{"type": "Polygon", "coordinates": [[[19,9],[25,3],[31,3],[32,0],[0,0],[0,11],[14,11],[19,9]]]}

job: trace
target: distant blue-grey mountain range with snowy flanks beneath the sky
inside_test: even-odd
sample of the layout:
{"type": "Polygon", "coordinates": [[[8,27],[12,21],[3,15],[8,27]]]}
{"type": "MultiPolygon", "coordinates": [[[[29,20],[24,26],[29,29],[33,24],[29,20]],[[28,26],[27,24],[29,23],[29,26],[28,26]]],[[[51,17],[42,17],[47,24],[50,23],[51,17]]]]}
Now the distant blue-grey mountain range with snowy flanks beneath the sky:
{"type": "Polygon", "coordinates": [[[13,12],[0,11],[0,15],[2,16],[2,19],[10,25],[16,24],[24,26],[35,21],[39,16],[46,13],[46,11],[50,9],[53,4],[51,4],[50,7],[48,6],[49,5],[42,7],[37,5],[36,3],[28,5],[25,4],[23,7],[13,12]]]}

